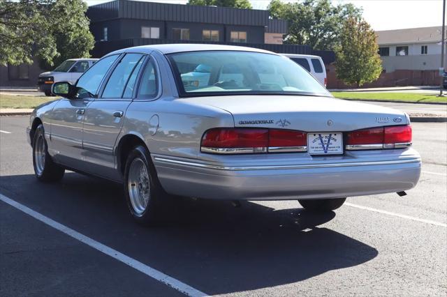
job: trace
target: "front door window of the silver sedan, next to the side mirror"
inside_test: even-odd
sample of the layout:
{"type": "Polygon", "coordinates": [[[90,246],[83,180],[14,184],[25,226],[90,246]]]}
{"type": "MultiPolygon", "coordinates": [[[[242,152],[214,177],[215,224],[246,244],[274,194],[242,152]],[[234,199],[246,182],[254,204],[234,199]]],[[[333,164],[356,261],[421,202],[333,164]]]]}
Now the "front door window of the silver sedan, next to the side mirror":
{"type": "Polygon", "coordinates": [[[80,77],[78,84],[76,84],[78,87],[78,98],[96,96],[99,85],[101,84],[105,73],[108,72],[110,66],[112,66],[113,62],[115,62],[118,56],[118,54],[106,56],[105,58],[97,61],[80,77]]]}

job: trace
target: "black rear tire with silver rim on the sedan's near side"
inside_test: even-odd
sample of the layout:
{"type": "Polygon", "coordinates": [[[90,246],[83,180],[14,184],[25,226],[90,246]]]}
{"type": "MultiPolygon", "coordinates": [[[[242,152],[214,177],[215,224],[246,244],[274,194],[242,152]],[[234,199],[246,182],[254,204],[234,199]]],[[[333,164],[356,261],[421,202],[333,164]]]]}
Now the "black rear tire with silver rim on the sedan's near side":
{"type": "MultiPolygon", "coordinates": [[[[146,180],[146,178],[143,179],[146,180]]],[[[145,146],[135,146],[126,159],[126,167],[124,169],[124,195],[126,197],[129,211],[138,223],[145,225],[155,224],[166,218],[164,214],[166,213],[167,208],[170,207],[169,202],[172,200],[161,187],[159,179],[156,175],[155,167],[150,159],[149,151],[145,148],[145,146]],[[149,181],[147,206],[145,206],[144,210],[141,210],[142,208],[135,207],[135,199],[131,198],[131,195],[135,197],[135,192],[138,192],[138,195],[140,195],[140,191],[145,192],[145,190],[141,190],[141,188],[145,187],[142,186],[140,188],[141,183],[135,183],[135,178],[130,177],[131,170],[135,170],[132,169],[132,167],[137,166],[133,165],[133,163],[138,162],[138,164],[142,166],[140,161],[142,161],[145,166],[148,175],[147,179],[149,181]],[[131,194],[132,192],[133,194],[131,194]]]]}

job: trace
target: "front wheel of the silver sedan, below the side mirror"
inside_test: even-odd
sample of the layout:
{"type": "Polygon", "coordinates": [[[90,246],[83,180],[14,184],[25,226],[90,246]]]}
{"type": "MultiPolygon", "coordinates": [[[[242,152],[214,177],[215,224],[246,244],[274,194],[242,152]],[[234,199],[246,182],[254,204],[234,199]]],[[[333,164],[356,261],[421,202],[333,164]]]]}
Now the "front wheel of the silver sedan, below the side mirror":
{"type": "Polygon", "coordinates": [[[38,181],[60,181],[64,177],[65,169],[53,162],[48,153],[45,130],[40,124],[34,132],[33,139],[33,167],[38,181]],[[38,158],[40,160],[38,160],[38,158]]]}

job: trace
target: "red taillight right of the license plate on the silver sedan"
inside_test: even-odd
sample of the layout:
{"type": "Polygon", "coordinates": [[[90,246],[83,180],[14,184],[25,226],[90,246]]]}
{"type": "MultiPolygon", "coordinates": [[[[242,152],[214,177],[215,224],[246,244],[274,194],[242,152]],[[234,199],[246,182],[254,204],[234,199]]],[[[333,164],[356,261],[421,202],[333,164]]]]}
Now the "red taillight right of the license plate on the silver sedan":
{"type": "Polygon", "coordinates": [[[404,148],[411,145],[411,126],[396,125],[349,132],[346,149],[404,148]]]}

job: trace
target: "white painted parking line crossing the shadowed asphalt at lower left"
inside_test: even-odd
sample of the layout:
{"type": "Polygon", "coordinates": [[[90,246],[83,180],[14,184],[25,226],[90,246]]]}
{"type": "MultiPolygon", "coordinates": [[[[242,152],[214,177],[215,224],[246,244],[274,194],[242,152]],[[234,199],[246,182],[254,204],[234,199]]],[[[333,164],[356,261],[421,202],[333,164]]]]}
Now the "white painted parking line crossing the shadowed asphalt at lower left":
{"type": "Polygon", "coordinates": [[[154,280],[158,280],[159,282],[163,282],[163,284],[167,284],[169,287],[172,287],[173,289],[176,289],[177,291],[180,291],[183,294],[186,294],[187,296],[207,296],[207,294],[198,291],[193,287],[190,287],[184,282],[180,282],[179,280],[176,280],[175,278],[170,277],[169,275],[166,275],[161,271],[157,271],[156,269],[147,266],[146,264],[142,264],[140,261],[137,261],[129,256],[126,256],[125,254],[122,254],[117,250],[109,248],[107,245],[98,243],[98,241],[95,241],[92,238],[80,234],[79,232],[71,228],[68,228],[63,224],[60,224],[59,222],[56,222],[46,217],[45,215],[42,215],[41,213],[33,211],[31,208],[28,208],[27,206],[24,206],[18,203],[17,201],[14,201],[13,199],[6,197],[5,195],[0,194],[0,200],[9,204],[10,206],[17,208],[20,211],[23,211],[24,213],[27,213],[28,215],[31,215],[31,217],[35,218],[36,220],[39,220],[44,224],[47,224],[48,226],[53,227],[54,229],[57,229],[67,234],[68,236],[71,236],[76,240],[85,243],[86,245],[89,245],[91,248],[94,248],[99,252],[103,252],[104,254],[107,254],[108,256],[117,259],[118,261],[121,261],[122,263],[131,266],[132,268],[135,268],[136,270],[144,273],[145,275],[152,277],[154,280]]]}

